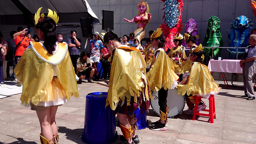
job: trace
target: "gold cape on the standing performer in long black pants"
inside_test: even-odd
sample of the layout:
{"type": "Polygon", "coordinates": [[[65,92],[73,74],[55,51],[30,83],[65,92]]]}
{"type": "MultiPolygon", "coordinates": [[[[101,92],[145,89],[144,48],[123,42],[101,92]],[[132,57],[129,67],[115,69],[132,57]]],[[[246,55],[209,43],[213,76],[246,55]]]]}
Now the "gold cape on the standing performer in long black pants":
{"type": "Polygon", "coordinates": [[[159,51],[155,62],[151,66],[146,76],[149,79],[151,88],[153,91],[159,91],[163,86],[165,90],[174,89],[177,85],[176,80],[179,78],[172,68],[174,65],[171,63],[170,58],[164,52],[164,49],[159,48],[156,50],[156,53],[159,51]]]}

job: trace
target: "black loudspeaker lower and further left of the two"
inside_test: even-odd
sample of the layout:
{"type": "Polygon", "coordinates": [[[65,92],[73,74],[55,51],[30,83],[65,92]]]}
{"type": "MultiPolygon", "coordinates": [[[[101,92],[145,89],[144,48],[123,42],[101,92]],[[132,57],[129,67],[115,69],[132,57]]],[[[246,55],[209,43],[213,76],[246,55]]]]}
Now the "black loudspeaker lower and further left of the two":
{"type": "Polygon", "coordinates": [[[92,22],[90,18],[80,18],[83,37],[92,37],[92,22]]]}

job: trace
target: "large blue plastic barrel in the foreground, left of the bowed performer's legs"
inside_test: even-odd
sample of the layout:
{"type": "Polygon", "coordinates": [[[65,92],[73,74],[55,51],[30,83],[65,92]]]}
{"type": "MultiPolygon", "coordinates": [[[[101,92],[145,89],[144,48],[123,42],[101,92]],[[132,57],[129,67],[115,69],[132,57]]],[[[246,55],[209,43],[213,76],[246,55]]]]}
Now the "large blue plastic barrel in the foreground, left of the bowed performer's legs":
{"type": "Polygon", "coordinates": [[[92,92],[86,96],[85,126],[82,141],[87,144],[109,144],[117,140],[116,116],[108,105],[107,92],[92,92]]]}

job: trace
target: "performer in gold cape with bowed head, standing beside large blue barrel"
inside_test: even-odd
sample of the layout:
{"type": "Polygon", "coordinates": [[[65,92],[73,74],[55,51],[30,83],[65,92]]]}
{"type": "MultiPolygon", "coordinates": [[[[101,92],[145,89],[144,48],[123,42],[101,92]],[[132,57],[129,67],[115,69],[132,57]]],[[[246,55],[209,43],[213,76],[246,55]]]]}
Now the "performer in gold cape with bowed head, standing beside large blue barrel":
{"type": "Polygon", "coordinates": [[[135,130],[134,111],[147,111],[150,106],[149,81],[145,76],[146,63],[140,51],[121,44],[117,34],[112,31],[104,35],[104,44],[112,51],[112,65],[106,106],[116,110],[120,128],[124,135],[122,144],[139,143],[135,130]]]}

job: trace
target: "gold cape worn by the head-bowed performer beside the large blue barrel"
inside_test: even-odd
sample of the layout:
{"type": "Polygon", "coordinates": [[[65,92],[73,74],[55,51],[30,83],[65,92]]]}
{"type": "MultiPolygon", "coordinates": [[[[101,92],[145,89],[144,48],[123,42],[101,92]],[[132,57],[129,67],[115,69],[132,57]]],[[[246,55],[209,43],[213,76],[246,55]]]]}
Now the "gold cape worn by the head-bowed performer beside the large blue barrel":
{"type": "Polygon", "coordinates": [[[117,47],[113,53],[106,107],[110,105],[111,109],[115,110],[119,100],[124,102],[125,97],[128,106],[131,96],[134,96],[134,102],[137,102],[142,87],[145,87],[142,99],[148,101],[149,96],[152,98],[150,86],[143,84],[142,79],[148,82],[143,76],[143,71],[146,71],[146,63],[140,50],[134,47],[117,47]]]}

